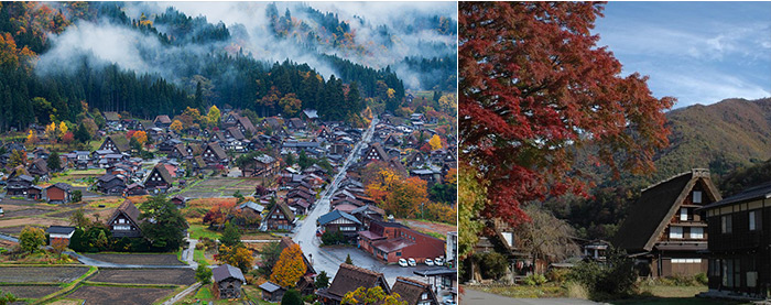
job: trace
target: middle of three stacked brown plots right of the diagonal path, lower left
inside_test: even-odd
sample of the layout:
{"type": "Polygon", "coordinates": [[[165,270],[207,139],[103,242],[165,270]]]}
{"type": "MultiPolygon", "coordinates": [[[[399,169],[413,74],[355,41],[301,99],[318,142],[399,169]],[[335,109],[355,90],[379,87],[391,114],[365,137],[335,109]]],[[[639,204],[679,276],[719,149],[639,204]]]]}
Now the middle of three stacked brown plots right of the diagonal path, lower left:
{"type": "Polygon", "coordinates": [[[192,269],[101,269],[91,282],[121,284],[172,284],[192,285],[195,270],[192,269]]]}

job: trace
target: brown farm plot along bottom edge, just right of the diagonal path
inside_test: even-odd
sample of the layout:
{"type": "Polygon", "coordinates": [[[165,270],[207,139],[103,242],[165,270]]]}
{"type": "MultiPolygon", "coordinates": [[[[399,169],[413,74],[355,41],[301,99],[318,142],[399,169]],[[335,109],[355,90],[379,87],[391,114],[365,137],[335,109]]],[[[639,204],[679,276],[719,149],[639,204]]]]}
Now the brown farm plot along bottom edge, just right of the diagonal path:
{"type": "Polygon", "coordinates": [[[174,290],[82,286],[67,298],[85,299],[86,304],[152,304],[174,290]]]}

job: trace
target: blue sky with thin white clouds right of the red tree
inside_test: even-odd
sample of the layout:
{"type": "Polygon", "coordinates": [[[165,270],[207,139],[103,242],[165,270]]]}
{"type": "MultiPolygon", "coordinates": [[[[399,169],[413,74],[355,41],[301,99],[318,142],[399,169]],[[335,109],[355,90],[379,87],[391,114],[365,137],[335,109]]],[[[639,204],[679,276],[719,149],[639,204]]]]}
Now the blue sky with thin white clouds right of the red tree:
{"type": "Polygon", "coordinates": [[[593,33],[674,108],[771,97],[771,2],[610,2],[593,33]]]}

